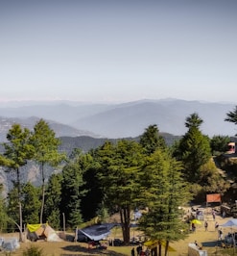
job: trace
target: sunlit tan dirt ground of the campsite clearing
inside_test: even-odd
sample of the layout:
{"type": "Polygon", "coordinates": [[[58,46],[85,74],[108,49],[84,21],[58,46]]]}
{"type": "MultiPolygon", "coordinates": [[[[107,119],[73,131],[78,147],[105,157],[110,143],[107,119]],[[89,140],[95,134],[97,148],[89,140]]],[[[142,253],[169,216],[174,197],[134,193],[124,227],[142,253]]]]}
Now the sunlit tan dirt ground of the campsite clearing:
{"type": "MultiPolygon", "coordinates": [[[[169,256],[184,256],[188,252],[188,243],[194,243],[197,241],[202,244],[203,250],[206,250],[208,255],[223,255],[221,253],[221,247],[218,246],[218,232],[215,230],[215,222],[218,221],[219,224],[225,223],[230,218],[222,218],[220,216],[216,217],[214,221],[211,214],[205,214],[204,220],[208,222],[208,230],[204,229],[204,220],[201,220],[201,225],[197,225],[197,230],[195,233],[190,233],[189,237],[183,241],[177,243],[171,243],[171,247],[176,251],[170,251],[169,256]]],[[[231,228],[222,228],[225,235],[228,232],[233,231],[231,228]]],[[[132,232],[132,231],[131,231],[132,232]]],[[[10,236],[10,235],[9,235],[10,236]]],[[[0,237],[1,234],[0,234],[0,237]]],[[[12,235],[12,237],[17,237],[12,235]]],[[[44,256],[70,256],[70,255],[114,255],[114,256],[130,256],[131,246],[108,246],[107,250],[100,249],[88,249],[86,243],[75,243],[75,242],[27,242],[20,243],[20,248],[12,252],[11,256],[22,256],[23,251],[30,246],[38,246],[42,248],[44,256]]],[[[6,252],[0,252],[0,255],[6,255],[6,252]]],[[[162,254],[163,255],[163,254],[162,254]]],[[[230,255],[230,254],[227,254],[230,255]]],[[[233,254],[231,254],[233,255],[233,254]]],[[[237,255],[237,252],[236,252],[237,255]]]]}

